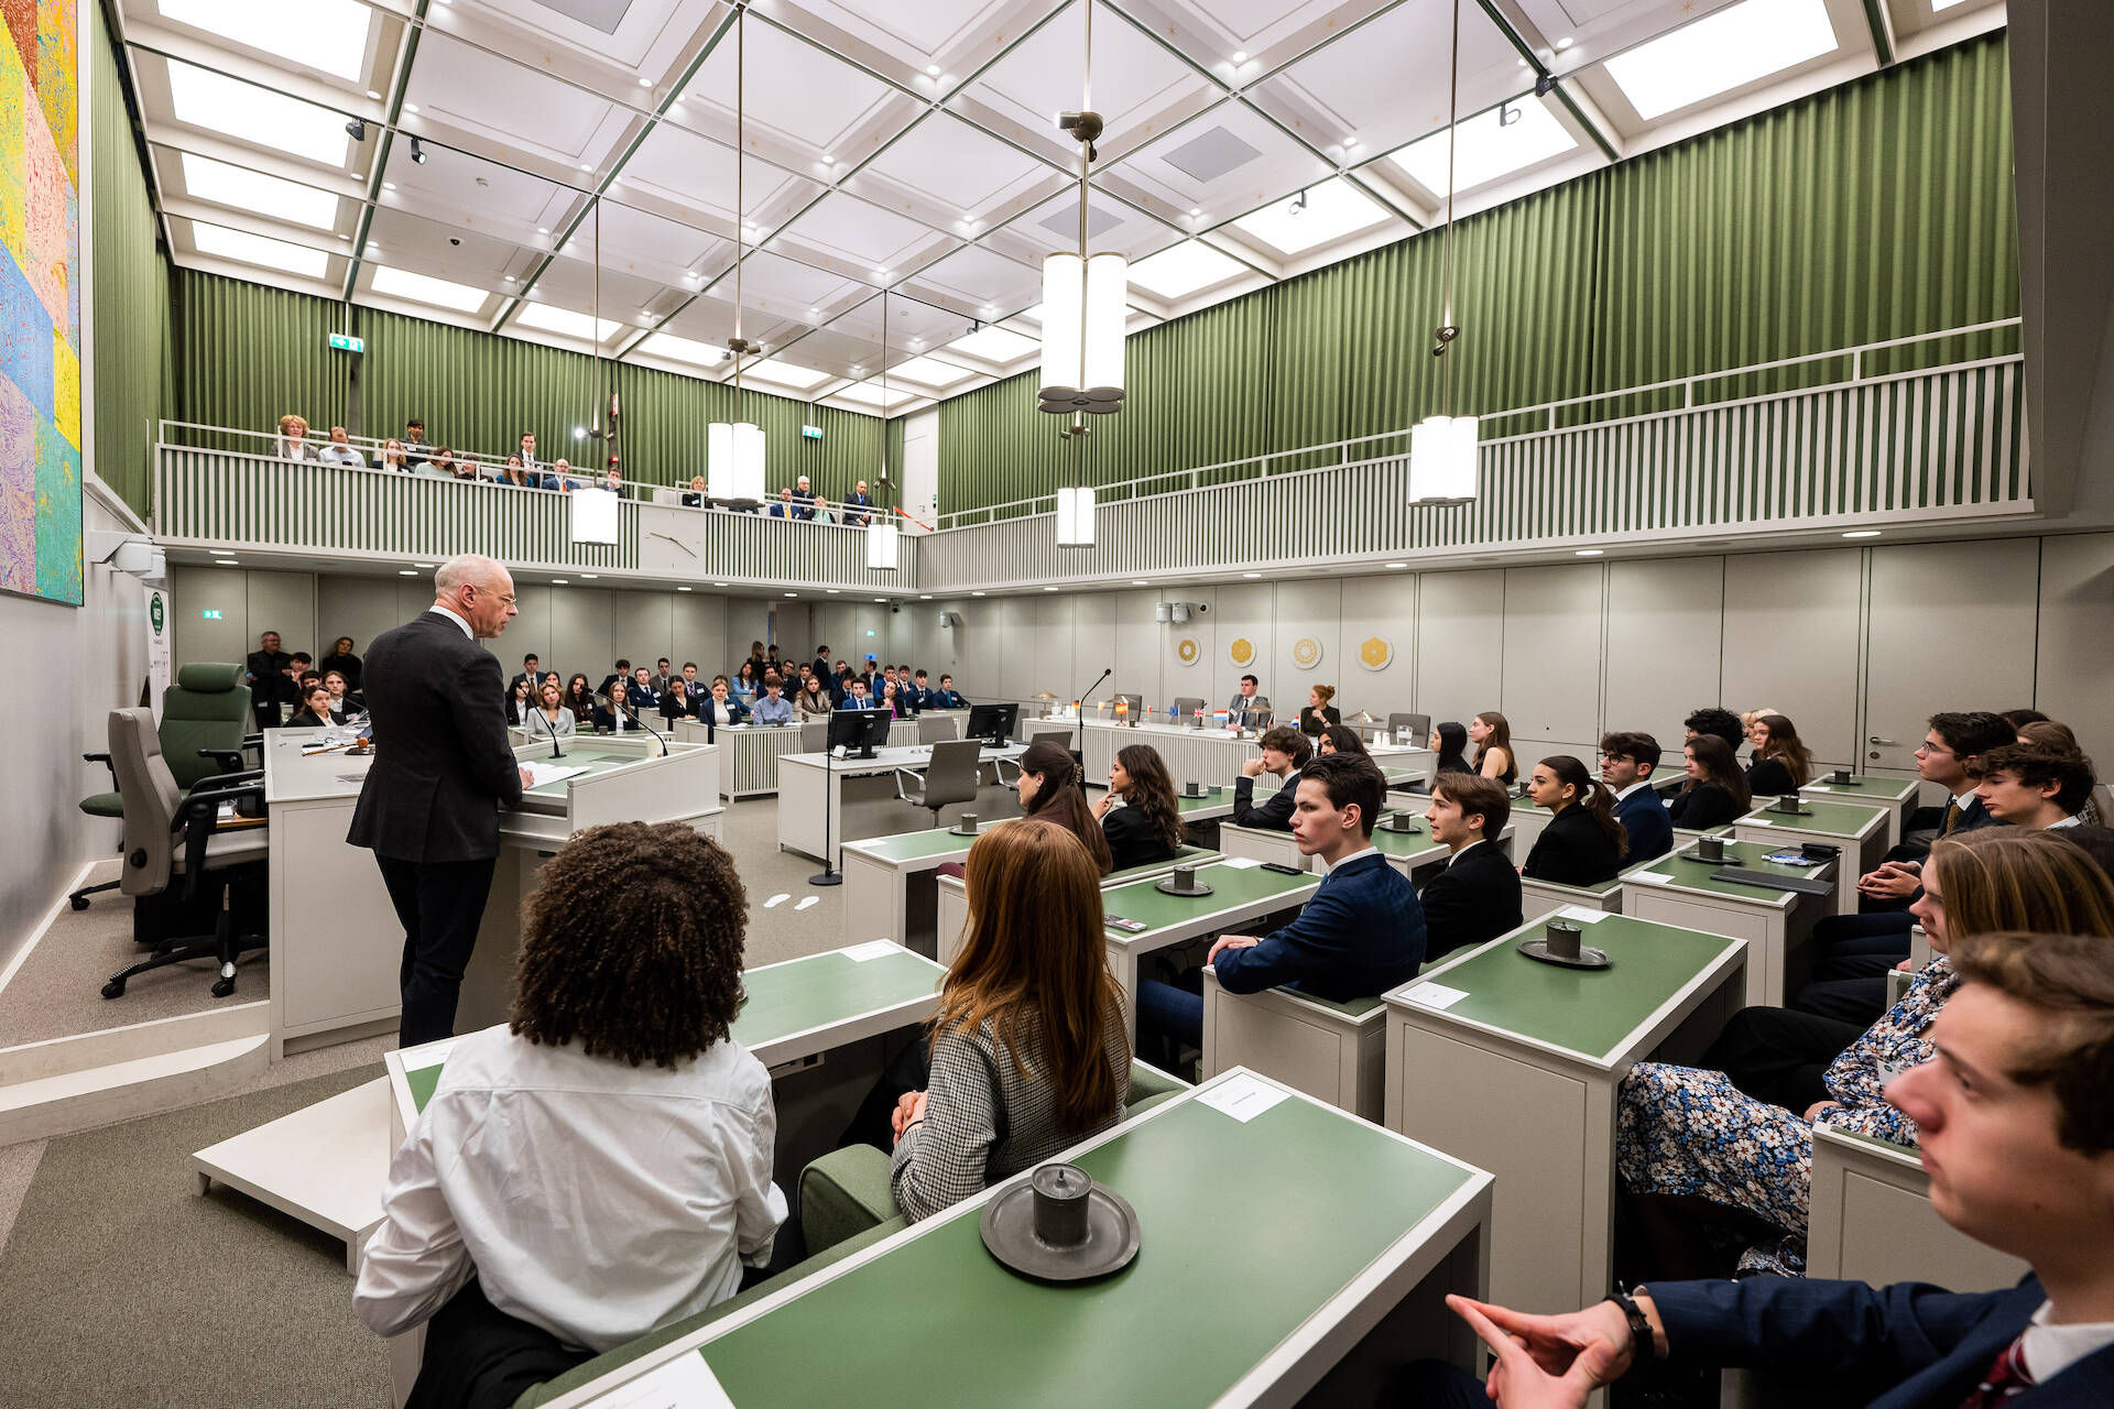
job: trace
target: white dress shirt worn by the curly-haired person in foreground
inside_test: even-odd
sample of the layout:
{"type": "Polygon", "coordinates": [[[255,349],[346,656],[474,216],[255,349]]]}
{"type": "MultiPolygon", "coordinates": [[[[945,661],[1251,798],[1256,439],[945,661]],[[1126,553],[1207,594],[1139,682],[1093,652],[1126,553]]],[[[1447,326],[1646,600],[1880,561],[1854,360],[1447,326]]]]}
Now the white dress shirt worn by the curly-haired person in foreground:
{"type": "Polygon", "coordinates": [[[734,1039],[670,1071],[471,1033],[389,1164],[353,1305],[397,1335],[476,1274],[507,1316],[611,1350],[769,1259],[776,1136],[769,1075],[734,1039]]]}

